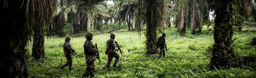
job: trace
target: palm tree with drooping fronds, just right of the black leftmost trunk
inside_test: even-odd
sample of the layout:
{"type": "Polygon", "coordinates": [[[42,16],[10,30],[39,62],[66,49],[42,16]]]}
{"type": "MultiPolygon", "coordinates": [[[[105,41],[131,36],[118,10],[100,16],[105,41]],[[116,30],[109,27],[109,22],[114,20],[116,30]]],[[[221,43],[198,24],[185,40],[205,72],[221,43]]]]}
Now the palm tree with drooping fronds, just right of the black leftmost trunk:
{"type": "Polygon", "coordinates": [[[38,2],[37,4],[31,2],[28,3],[28,10],[26,11],[26,13],[28,15],[32,15],[32,16],[28,16],[29,20],[29,24],[33,25],[33,48],[32,48],[32,56],[35,59],[39,59],[42,57],[45,57],[45,47],[44,47],[44,27],[45,24],[50,24],[50,19],[52,19],[52,14],[53,11],[52,9],[55,8],[56,5],[56,0],[37,0],[35,2],[38,2]],[[48,5],[45,5],[48,4],[48,5]],[[29,11],[30,9],[36,9],[36,10],[32,10],[29,11]]]}

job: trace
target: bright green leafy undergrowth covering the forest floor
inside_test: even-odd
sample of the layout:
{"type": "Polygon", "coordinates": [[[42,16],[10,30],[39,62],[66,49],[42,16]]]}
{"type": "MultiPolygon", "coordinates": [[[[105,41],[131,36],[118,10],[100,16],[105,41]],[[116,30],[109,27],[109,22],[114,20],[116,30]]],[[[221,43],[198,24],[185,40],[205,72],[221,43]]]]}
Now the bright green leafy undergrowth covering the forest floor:
{"type": "MultiPolygon", "coordinates": [[[[165,59],[156,60],[158,54],[146,54],[146,38],[135,31],[123,30],[114,32],[123,54],[117,67],[102,69],[106,66],[108,56],[105,55],[108,33],[95,33],[93,44],[97,43],[100,53],[100,64],[95,60],[95,78],[255,78],[256,77],[256,46],[250,42],[256,37],[256,28],[245,28],[234,32],[233,51],[236,58],[230,60],[228,68],[210,70],[211,48],[214,44],[212,28],[203,28],[202,33],[191,34],[186,31],[186,37],[180,37],[176,28],[165,29],[167,52],[165,59]],[[191,47],[189,47],[191,46],[191,47]]],[[[197,30],[198,31],[198,30],[197,30]]],[[[160,36],[161,34],[159,34],[160,36]]],[[[83,53],[85,32],[71,34],[72,49],[79,54],[73,57],[72,71],[69,67],[59,69],[66,63],[63,52],[65,38],[46,37],[45,56],[33,60],[29,56],[28,71],[30,78],[80,78],[86,69],[83,53]]],[[[28,46],[32,53],[32,42],[28,46]]],[[[118,52],[119,53],[119,52],[118,52]]],[[[119,55],[121,55],[119,53],[119,55]]],[[[113,65],[113,58],[111,66],[113,65]]]]}

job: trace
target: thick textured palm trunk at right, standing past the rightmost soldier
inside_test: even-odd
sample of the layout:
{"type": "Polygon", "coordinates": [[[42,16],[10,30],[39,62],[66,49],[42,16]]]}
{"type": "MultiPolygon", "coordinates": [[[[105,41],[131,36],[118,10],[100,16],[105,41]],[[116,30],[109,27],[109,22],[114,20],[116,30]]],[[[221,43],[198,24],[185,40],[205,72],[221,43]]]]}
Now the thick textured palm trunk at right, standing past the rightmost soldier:
{"type": "Polygon", "coordinates": [[[215,0],[215,26],[214,26],[214,42],[212,48],[212,57],[210,61],[210,68],[215,69],[219,66],[225,67],[228,65],[228,60],[232,58],[232,50],[230,50],[230,45],[232,44],[233,29],[232,22],[232,9],[233,0],[215,0]],[[229,7],[228,7],[229,6],[229,7]],[[223,7],[223,8],[219,8],[223,7]],[[229,11],[226,11],[229,8],[229,11]]]}

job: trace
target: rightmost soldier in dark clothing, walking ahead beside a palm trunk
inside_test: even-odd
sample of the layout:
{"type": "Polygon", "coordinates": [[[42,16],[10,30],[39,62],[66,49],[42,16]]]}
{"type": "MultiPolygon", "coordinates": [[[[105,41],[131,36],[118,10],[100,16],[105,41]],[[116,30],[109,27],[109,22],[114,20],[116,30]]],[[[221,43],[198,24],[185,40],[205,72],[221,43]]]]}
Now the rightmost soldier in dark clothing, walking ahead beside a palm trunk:
{"type": "Polygon", "coordinates": [[[160,48],[160,53],[158,55],[157,60],[162,56],[162,53],[163,53],[163,59],[165,58],[165,49],[164,49],[165,48],[164,46],[166,46],[165,36],[166,36],[166,34],[163,33],[162,36],[160,36],[157,40],[157,47],[160,48]]]}

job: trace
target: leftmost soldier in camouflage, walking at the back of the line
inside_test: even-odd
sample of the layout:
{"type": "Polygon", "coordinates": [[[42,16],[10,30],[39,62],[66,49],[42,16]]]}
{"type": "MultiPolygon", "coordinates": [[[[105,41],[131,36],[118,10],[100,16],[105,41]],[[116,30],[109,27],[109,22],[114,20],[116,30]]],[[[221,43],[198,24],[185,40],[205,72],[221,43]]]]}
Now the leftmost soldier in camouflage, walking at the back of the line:
{"type": "Polygon", "coordinates": [[[65,57],[67,58],[67,63],[65,63],[62,67],[60,67],[60,69],[63,69],[64,67],[68,66],[69,65],[69,70],[72,70],[72,48],[71,48],[71,45],[69,44],[70,42],[70,38],[69,37],[66,37],[65,38],[65,43],[63,44],[63,51],[64,51],[64,54],[65,54],[65,57]]]}

